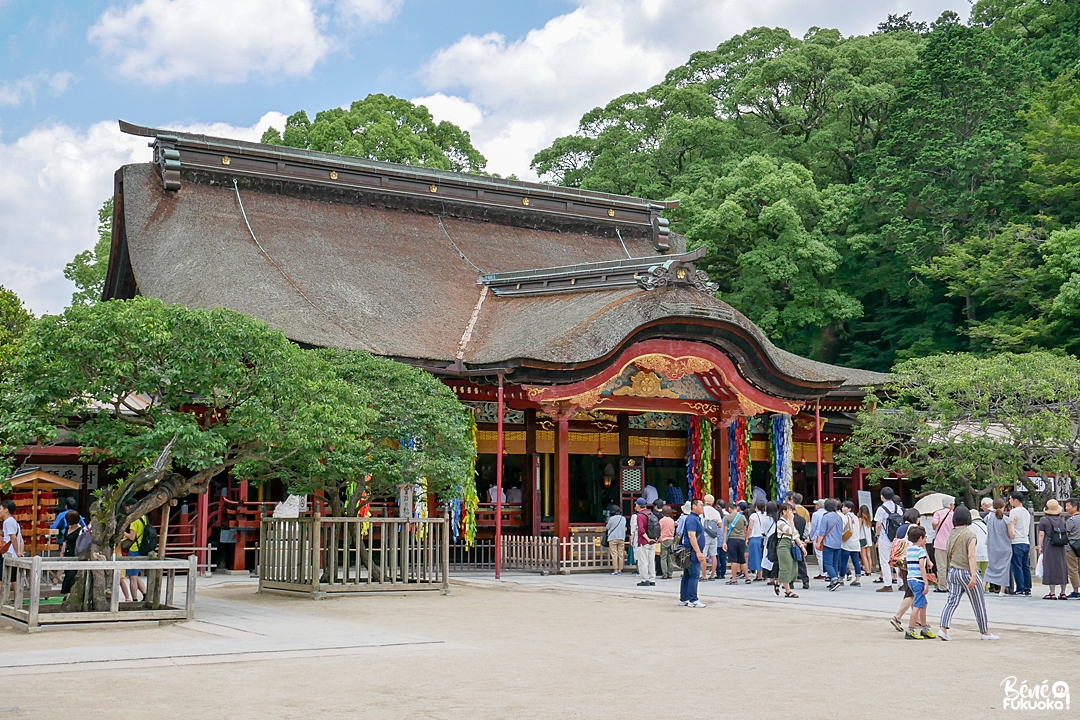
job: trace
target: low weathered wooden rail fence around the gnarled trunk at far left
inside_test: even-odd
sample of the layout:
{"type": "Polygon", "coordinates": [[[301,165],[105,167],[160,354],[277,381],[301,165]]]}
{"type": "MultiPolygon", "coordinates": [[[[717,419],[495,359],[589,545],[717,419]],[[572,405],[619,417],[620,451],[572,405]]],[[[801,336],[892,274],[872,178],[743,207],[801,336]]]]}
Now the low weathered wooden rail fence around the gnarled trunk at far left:
{"type": "MultiPolygon", "coordinates": [[[[118,621],[191,620],[195,608],[194,555],[187,560],[150,560],[125,557],[121,560],[67,560],[41,556],[3,559],[4,574],[15,571],[15,583],[2,582],[0,586],[0,616],[25,626],[28,633],[42,629],[42,625],[70,623],[113,623],[118,621]],[[77,571],[104,571],[111,583],[107,611],[64,612],[60,606],[41,604],[41,581],[48,573],[77,571]],[[120,602],[120,579],[129,570],[143,570],[147,575],[147,600],[120,602]],[[176,572],[187,573],[185,606],[176,607],[173,595],[176,572]],[[164,593],[164,599],[162,599],[164,593]]],[[[4,579],[6,580],[6,578],[4,579]]]]}

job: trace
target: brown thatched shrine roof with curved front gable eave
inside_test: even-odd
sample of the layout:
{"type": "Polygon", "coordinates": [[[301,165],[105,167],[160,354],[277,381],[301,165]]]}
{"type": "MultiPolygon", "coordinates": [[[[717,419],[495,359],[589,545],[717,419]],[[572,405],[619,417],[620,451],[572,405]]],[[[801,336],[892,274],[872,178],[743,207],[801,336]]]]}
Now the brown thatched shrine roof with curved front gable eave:
{"type": "MultiPolygon", "coordinates": [[[[286,158],[314,167],[305,171],[312,177],[324,163],[340,173],[345,165],[373,176],[407,173],[424,192],[424,184],[437,184],[438,192],[449,192],[455,182],[488,188],[464,201],[447,196],[432,204],[431,198],[418,198],[416,188],[397,191],[388,180],[377,190],[338,188],[323,179],[328,174],[305,180],[282,161],[301,151],[177,134],[163,144],[161,137],[158,163],[117,172],[106,297],[139,293],[193,308],[226,307],[260,317],[301,343],[361,349],[436,368],[515,367],[514,380],[553,380],[559,372],[595,368],[645,337],[713,342],[747,379],[781,396],[820,396],[883,380],[786,353],[730,305],[686,285],[528,297],[486,293],[476,312],[481,274],[625,260],[627,254],[644,262],[672,257],[657,249],[661,206],[648,201],[580,191],[561,200],[563,189],[549,186],[322,153],[286,158]],[[220,164],[222,150],[215,141],[229,144],[228,165],[220,164]],[[172,166],[179,166],[176,190],[166,190],[162,180],[163,145],[178,149],[180,160],[172,166]],[[201,154],[188,152],[189,146],[201,154]],[[496,196],[492,188],[515,196],[532,193],[536,200],[530,206],[501,196],[486,203],[486,195],[496,196]],[[544,209],[541,200],[556,209],[544,209]],[[590,208],[570,212],[585,200],[610,207],[596,217],[584,216],[590,208]],[[609,219],[616,210],[619,217],[609,219]],[[462,343],[467,328],[471,334],[462,343]]],[[[670,242],[676,254],[685,248],[677,235],[670,242]]]]}

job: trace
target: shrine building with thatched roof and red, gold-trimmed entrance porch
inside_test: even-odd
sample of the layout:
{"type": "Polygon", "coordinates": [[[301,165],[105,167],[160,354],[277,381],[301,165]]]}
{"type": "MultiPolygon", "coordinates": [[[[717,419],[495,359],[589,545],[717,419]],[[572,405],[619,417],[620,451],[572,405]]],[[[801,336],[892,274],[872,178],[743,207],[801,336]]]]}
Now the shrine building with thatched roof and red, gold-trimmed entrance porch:
{"type": "MultiPolygon", "coordinates": [[[[105,298],[261,318],[441,378],[477,422],[482,526],[567,536],[665,497],[852,498],[834,472],[885,376],[785,352],[662,217],[675,203],[121,123],[105,298]]],[[[245,491],[246,495],[246,491],[245,491]]]]}

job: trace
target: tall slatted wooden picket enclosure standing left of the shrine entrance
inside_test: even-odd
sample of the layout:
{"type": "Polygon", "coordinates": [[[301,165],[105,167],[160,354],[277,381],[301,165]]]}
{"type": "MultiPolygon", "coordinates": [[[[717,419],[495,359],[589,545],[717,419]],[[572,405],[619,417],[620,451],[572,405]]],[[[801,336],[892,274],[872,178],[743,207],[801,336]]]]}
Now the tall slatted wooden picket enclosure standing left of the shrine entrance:
{"type": "Polygon", "coordinates": [[[446,518],[265,517],[259,590],[312,597],[449,589],[446,518]]]}

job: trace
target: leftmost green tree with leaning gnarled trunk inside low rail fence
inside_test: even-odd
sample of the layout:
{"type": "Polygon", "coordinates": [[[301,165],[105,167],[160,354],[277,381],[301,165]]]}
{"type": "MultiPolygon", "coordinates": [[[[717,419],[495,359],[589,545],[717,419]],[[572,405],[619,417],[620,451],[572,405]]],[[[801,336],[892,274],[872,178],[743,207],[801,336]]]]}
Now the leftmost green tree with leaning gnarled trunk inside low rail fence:
{"type": "Polygon", "coordinates": [[[219,473],[287,477],[308,462],[359,474],[369,445],[370,395],[318,356],[245,315],[150,298],[40,318],[0,394],[9,450],[63,433],[129,473],[91,507],[103,556],[132,520],[219,473]]]}

